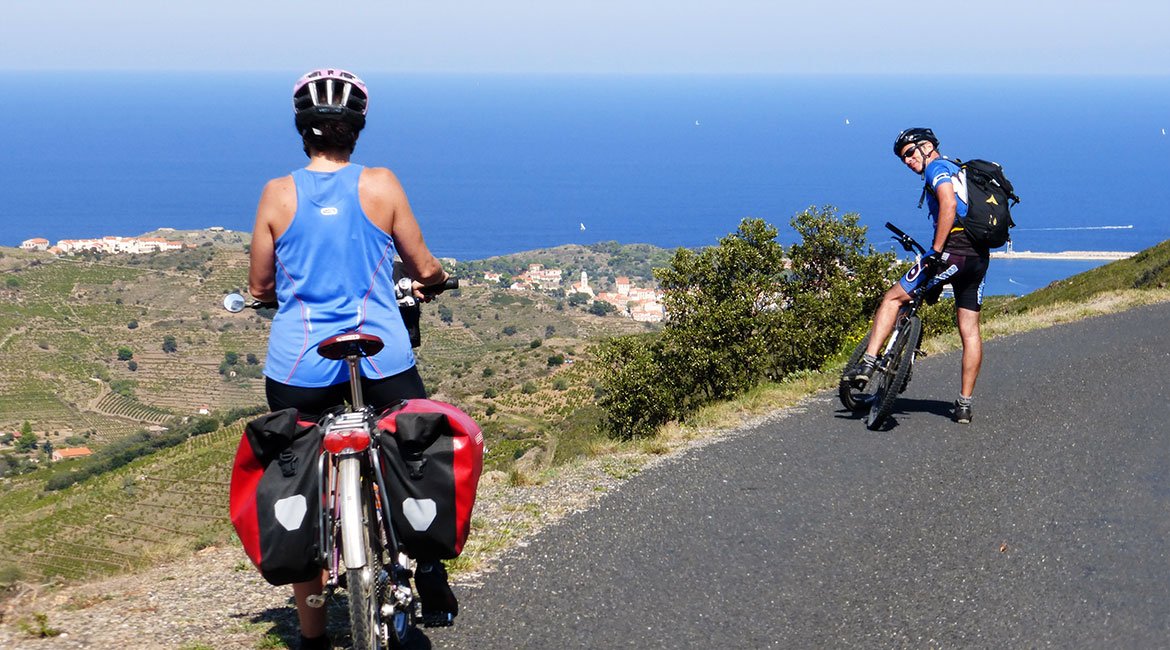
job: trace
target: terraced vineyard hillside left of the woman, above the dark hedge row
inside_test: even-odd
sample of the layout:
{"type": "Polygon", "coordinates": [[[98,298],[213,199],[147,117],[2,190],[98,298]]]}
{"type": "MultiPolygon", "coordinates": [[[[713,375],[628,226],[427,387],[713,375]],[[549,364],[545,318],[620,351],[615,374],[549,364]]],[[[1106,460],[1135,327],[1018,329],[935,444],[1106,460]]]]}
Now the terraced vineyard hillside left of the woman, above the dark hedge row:
{"type": "MultiPolygon", "coordinates": [[[[16,289],[0,293],[0,431],[28,421],[54,444],[80,433],[99,443],[204,408],[262,403],[262,382],[218,369],[238,348],[222,339],[241,323],[220,300],[246,278],[240,248],[4,260],[16,289]]],[[[245,326],[262,348],[263,326],[245,326]]]]}

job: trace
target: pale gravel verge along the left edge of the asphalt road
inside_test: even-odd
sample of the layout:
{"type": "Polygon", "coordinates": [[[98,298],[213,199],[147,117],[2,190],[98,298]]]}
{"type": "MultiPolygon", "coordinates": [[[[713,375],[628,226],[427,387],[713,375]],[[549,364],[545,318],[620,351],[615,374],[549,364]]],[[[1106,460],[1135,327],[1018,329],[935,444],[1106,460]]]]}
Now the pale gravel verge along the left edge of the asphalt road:
{"type": "MultiPolygon", "coordinates": [[[[728,431],[690,431],[655,454],[624,452],[560,468],[532,485],[484,475],[470,548],[475,568],[453,576],[456,593],[474,589],[508,548],[565,516],[596,505],[626,478],[658,461],[718,440],[728,431]]],[[[226,509],[226,506],[225,506],[226,509]]],[[[344,648],[345,620],[330,631],[344,648]]],[[[146,572],[76,585],[22,586],[0,604],[0,648],[12,650],[295,648],[291,590],[264,582],[243,549],[211,547],[146,572]],[[42,617],[37,621],[37,617],[42,617]],[[53,636],[40,637],[41,629],[53,636]]]]}

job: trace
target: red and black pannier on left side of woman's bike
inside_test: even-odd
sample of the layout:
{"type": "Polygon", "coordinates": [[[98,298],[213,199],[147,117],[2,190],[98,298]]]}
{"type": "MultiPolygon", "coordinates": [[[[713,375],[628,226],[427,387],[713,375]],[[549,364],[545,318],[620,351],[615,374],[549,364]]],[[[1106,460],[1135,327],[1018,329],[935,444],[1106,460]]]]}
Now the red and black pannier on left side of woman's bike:
{"type": "Polygon", "coordinates": [[[321,575],[321,478],[324,435],[288,408],[248,422],[232,468],[232,525],[271,585],[321,575]]]}

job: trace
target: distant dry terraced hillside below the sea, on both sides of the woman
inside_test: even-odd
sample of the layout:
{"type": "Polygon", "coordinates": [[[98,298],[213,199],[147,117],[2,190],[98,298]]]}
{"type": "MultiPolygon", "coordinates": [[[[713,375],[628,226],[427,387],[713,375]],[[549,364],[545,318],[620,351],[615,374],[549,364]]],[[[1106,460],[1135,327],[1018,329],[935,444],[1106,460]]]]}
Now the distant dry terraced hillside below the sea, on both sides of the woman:
{"type": "MultiPolygon", "coordinates": [[[[56,448],[99,445],[171,417],[263,402],[259,367],[268,321],[220,309],[221,297],[246,283],[245,236],[156,234],[198,248],[60,258],[0,251],[0,433],[27,421],[56,448]],[[228,368],[236,376],[225,379],[220,367],[228,353],[240,361],[228,368]]],[[[537,257],[579,260],[585,249],[574,248],[514,256],[502,265],[518,271],[537,257]]],[[[586,264],[594,274],[607,268],[597,257],[586,264]]],[[[544,381],[552,374],[549,357],[572,359],[594,337],[642,329],[566,309],[548,296],[486,286],[459,293],[442,298],[441,316],[425,311],[420,367],[438,396],[472,400],[481,415],[489,403],[476,395],[489,388],[504,394],[530,380],[551,385],[544,381]]],[[[542,400],[529,415],[544,420],[553,402],[565,401],[542,400]]],[[[514,414],[526,408],[507,400],[501,406],[514,414]]]]}

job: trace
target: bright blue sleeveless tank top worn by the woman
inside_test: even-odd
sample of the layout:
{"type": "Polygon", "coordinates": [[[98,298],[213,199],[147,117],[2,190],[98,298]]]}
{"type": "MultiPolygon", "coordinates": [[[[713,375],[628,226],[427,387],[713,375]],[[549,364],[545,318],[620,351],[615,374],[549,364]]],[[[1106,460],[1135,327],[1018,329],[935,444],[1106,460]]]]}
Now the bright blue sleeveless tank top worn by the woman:
{"type": "Polygon", "coordinates": [[[363,359],[362,375],[381,379],[414,366],[394,299],[394,241],[373,224],[358,199],[360,165],[336,172],[292,172],[296,214],[276,240],[276,299],[264,375],[300,387],[349,380],[345,361],[317,354],[343,332],[376,334],[386,344],[363,359]]]}

